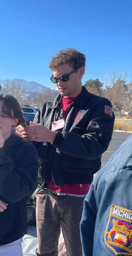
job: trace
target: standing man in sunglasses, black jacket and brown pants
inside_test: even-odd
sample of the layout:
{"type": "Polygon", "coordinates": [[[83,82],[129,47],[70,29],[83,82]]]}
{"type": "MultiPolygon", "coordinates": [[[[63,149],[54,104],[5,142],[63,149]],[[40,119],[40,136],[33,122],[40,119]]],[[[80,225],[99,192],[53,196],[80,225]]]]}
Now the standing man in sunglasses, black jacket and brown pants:
{"type": "Polygon", "coordinates": [[[59,94],[37,112],[34,123],[17,132],[34,141],[40,158],[36,192],[36,255],[57,256],[60,227],[67,256],[81,256],[79,222],[93,174],[109,146],[114,114],[108,99],[82,86],[86,57],[73,48],[50,62],[50,80],[59,94]]]}

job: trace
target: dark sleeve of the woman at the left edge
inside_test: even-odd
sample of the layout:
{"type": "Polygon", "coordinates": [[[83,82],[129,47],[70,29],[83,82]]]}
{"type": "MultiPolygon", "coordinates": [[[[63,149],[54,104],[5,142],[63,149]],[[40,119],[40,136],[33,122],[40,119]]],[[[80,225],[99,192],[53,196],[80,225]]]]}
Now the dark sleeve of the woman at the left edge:
{"type": "Polygon", "coordinates": [[[12,161],[0,149],[0,198],[4,202],[16,203],[37,187],[38,160],[36,149],[27,143],[21,161],[12,161]]]}

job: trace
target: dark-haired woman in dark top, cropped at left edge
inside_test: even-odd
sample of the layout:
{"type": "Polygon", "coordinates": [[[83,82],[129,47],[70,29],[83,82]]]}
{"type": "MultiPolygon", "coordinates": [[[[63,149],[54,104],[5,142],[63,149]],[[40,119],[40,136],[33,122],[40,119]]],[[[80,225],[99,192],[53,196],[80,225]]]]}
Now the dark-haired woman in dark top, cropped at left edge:
{"type": "Polygon", "coordinates": [[[27,201],[37,186],[35,147],[13,132],[25,125],[12,95],[0,94],[0,255],[22,256],[27,232],[27,201]]]}

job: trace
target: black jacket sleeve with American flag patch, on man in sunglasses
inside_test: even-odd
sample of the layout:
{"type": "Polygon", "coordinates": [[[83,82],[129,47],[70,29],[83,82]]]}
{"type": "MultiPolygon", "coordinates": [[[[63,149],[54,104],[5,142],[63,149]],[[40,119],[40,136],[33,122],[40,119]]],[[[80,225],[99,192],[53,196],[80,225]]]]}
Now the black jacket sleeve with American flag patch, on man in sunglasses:
{"type": "MultiPolygon", "coordinates": [[[[105,104],[112,107],[109,100],[105,104]]],[[[115,120],[114,113],[112,116],[105,113],[105,104],[102,102],[97,106],[90,121],[86,120],[87,127],[83,135],[78,135],[74,129],[58,132],[53,145],[61,153],[77,158],[92,160],[100,156],[109,146],[115,120]]]]}

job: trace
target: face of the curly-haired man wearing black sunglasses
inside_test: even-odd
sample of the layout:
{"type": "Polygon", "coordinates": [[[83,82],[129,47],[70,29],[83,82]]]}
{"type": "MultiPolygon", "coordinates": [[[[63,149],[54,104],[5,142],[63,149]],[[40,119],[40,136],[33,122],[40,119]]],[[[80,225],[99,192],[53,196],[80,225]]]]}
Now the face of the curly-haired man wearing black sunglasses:
{"type": "MultiPolygon", "coordinates": [[[[53,76],[58,77],[61,75],[66,75],[73,71],[73,68],[69,64],[64,64],[54,68],[53,76]]],[[[79,93],[81,93],[82,85],[81,79],[84,74],[84,67],[78,68],[77,72],[74,72],[69,76],[69,81],[61,81],[60,79],[56,83],[59,92],[62,97],[73,97],[76,98],[79,93]]]]}

